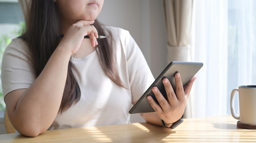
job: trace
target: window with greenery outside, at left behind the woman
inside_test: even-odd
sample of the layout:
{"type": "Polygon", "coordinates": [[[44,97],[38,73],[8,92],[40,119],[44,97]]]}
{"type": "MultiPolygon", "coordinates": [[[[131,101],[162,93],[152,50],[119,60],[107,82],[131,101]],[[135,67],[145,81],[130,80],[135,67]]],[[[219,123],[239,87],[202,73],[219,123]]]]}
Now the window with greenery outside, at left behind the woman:
{"type": "MultiPolygon", "coordinates": [[[[24,18],[18,0],[0,0],[0,63],[6,46],[11,39],[20,35],[21,27],[24,27],[24,18]]],[[[0,81],[0,111],[4,109],[5,104],[0,81]]]]}

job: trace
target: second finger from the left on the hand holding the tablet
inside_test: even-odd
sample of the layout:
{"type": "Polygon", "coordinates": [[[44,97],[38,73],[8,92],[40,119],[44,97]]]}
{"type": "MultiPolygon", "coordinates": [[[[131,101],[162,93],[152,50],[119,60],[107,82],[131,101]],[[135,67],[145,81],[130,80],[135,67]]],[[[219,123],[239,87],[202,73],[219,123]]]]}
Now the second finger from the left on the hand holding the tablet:
{"type": "Polygon", "coordinates": [[[171,108],[169,102],[164,98],[162,93],[159,91],[157,87],[152,88],[153,93],[155,94],[155,98],[159,102],[163,111],[169,110],[171,108]]]}

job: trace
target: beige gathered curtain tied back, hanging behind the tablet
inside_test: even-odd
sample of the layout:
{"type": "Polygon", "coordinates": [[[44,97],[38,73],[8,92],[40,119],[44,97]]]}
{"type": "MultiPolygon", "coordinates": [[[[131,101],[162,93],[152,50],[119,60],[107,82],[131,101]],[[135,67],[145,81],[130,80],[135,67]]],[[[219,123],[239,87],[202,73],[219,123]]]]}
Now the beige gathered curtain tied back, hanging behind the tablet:
{"type": "MultiPolygon", "coordinates": [[[[193,0],[164,0],[167,33],[167,62],[191,61],[191,20],[193,0]]],[[[185,118],[194,117],[193,97],[189,97],[185,118]]]]}

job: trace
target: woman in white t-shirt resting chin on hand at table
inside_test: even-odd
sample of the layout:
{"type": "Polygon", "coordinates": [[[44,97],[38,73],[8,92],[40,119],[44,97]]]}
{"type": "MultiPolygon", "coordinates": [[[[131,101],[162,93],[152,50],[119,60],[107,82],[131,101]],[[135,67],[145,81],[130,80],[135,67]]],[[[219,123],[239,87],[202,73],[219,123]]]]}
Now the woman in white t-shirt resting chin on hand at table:
{"type": "MultiPolygon", "coordinates": [[[[20,134],[130,123],[131,104],[154,78],[129,32],[96,20],[102,5],[103,0],[31,0],[26,31],[13,39],[2,61],[4,101],[20,134]]],[[[168,101],[153,87],[160,104],[147,97],[156,111],[141,114],[147,122],[161,126],[161,119],[180,119],[195,78],[184,88],[180,74],[175,80],[177,95],[163,79],[168,101]]]]}

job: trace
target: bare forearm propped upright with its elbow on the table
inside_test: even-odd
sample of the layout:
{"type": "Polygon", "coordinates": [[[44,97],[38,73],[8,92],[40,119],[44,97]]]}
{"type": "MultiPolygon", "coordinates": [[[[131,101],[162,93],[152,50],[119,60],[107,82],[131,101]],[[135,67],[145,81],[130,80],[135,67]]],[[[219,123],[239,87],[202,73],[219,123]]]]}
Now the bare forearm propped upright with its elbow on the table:
{"type": "Polygon", "coordinates": [[[16,130],[47,130],[63,96],[70,53],[57,48],[34,83],[23,93],[10,115],[16,130]]]}

